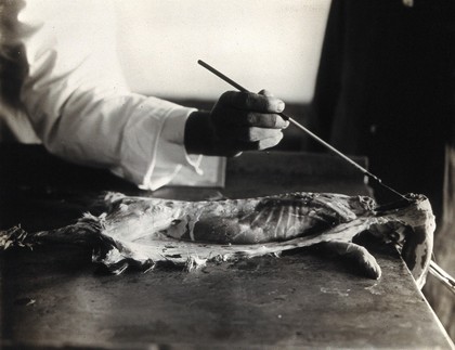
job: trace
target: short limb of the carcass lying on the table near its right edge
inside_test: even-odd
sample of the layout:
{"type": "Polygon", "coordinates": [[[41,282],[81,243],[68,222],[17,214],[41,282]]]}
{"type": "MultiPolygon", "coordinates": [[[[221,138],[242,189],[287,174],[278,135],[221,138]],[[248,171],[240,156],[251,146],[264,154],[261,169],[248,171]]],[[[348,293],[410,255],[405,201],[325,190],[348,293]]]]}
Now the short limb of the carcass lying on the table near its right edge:
{"type": "Polygon", "coordinates": [[[340,256],[352,261],[363,274],[368,277],[378,280],[381,275],[381,270],[374,256],[366,250],[365,247],[349,242],[324,242],[323,246],[340,256]]]}

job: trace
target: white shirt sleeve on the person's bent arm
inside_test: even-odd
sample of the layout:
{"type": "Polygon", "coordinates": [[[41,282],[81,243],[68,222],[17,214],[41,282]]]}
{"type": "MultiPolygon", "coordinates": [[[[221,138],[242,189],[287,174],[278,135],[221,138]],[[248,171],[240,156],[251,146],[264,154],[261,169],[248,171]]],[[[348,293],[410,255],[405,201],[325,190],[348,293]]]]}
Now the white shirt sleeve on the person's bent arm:
{"type": "Polygon", "coordinates": [[[200,157],[183,145],[194,109],[129,91],[106,3],[26,2],[18,21],[32,30],[22,39],[28,74],[21,99],[51,153],[155,190],[182,167],[198,171],[200,157]]]}

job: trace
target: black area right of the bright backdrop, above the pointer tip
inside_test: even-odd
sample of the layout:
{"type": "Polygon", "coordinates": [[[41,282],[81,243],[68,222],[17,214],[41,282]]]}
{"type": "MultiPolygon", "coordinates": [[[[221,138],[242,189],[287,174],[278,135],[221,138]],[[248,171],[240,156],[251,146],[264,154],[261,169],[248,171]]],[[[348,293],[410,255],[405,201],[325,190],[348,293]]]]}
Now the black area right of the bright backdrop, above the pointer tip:
{"type": "Polygon", "coordinates": [[[455,117],[454,38],[453,0],[334,0],[313,104],[315,131],[368,156],[398,191],[427,194],[437,211],[455,117]]]}

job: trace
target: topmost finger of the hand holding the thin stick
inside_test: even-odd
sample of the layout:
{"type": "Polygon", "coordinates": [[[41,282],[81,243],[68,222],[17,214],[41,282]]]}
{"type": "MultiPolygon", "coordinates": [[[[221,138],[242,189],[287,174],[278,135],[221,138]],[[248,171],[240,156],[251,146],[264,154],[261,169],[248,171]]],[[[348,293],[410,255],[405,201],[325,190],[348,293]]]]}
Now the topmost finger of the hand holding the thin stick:
{"type": "Polygon", "coordinates": [[[236,109],[256,111],[261,113],[281,113],[285,108],[285,103],[271,95],[253,92],[226,91],[218,103],[222,106],[229,106],[236,109]]]}

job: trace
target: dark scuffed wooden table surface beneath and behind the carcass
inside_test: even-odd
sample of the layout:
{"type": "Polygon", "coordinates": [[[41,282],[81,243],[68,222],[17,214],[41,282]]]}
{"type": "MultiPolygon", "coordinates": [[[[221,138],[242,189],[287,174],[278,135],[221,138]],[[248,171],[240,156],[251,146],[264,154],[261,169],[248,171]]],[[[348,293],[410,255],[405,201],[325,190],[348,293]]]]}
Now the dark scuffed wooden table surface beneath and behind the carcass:
{"type": "MultiPolygon", "coordinates": [[[[0,147],[0,229],[70,223],[103,191],[203,199],[288,191],[370,194],[329,156],[245,154],[230,159],[225,189],[166,187],[153,194],[38,146],[0,147]]],[[[364,159],[358,159],[364,161],[364,159]]],[[[1,261],[3,348],[440,348],[451,349],[400,257],[372,250],[379,281],[314,249],[186,273],[161,269],[105,275],[91,251],[12,250],[1,261]]]]}

